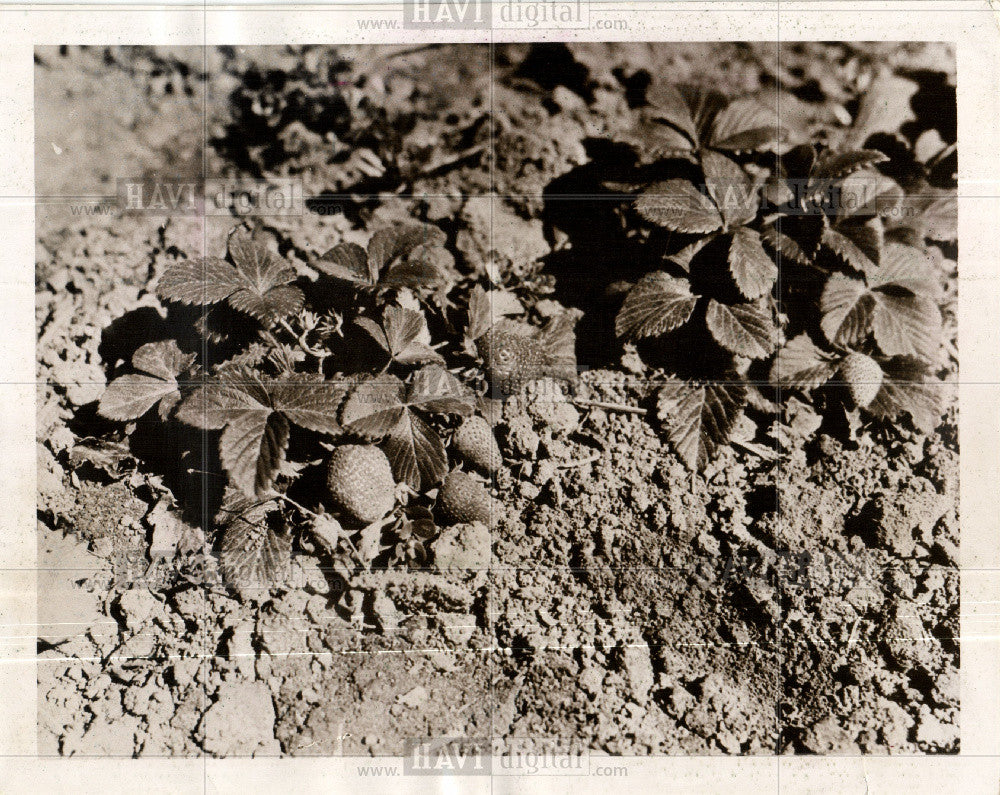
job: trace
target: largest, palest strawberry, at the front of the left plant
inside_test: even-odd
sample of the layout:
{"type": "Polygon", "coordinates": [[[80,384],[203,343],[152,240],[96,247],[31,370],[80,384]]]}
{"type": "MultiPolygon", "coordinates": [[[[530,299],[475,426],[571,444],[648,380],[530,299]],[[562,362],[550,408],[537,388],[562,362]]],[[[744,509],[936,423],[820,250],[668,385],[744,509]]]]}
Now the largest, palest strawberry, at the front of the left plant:
{"type": "Polygon", "coordinates": [[[364,524],[381,519],[396,504],[389,459],[372,445],[345,444],[334,450],[326,482],[337,506],[364,524]]]}

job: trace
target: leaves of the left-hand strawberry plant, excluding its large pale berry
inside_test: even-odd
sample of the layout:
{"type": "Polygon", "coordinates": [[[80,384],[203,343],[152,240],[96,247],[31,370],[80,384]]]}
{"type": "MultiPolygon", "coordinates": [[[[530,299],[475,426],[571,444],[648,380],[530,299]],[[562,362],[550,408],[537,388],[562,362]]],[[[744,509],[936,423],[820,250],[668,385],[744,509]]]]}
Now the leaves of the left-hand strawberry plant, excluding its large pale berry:
{"type": "MultiPolygon", "coordinates": [[[[450,333],[448,294],[459,274],[440,229],[382,229],[366,247],[341,243],[310,264],[315,278],[299,276],[242,228],[229,235],[225,257],[171,264],[156,294],[179,313],[179,329],[187,317],[190,333],[140,346],[98,407],[130,423],[127,433],[178,424],[215,446],[219,471],[205,475],[225,483],[220,570],[244,585],[287,574],[291,537],[282,510],[298,505],[293,495],[314,499],[307,514],[332,510],[316,505],[306,484],[342,443],[380,446],[405,488],[386,519],[395,539],[387,562],[426,563],[425,544],[436,534],[427,505],[455,463],[451,430],[477,407],[456,375],[468,355],[450,333]],[[184,307],[200,315],[191,321],[184,307]],[[215,334],[205,318],[220,310],[249,333],[215,334]]],[[[345,531],[345,549],[354,548],[355,532],[345,531]]]]}

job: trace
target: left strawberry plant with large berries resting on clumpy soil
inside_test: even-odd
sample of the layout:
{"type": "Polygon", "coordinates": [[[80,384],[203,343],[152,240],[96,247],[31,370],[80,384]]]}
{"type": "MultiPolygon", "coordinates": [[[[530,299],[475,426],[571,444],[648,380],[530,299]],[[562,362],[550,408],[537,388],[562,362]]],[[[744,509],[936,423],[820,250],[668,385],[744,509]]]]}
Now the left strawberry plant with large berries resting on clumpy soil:
{"type": "MultiPolygon", "coordinates": [[[[485,482],[458,470],[489,477],[500,456],[476,414],[479,354],[453,330],[471,314],[488,336],[489,301],[446,242],[430,225],[390,227],[338,244],[309,278],[238,227],[225,257],[161,275],[177,339],[140,346],[98,410],[127,434],[195,432],[179,436],[192,440],[182,457],[222,487],[213,525],[234,587],[284,577],[303,530],[354,567],[422,566],[435,502],[439,516],[488,519],[485,482]],[[439,495],[443,481],[461,488],[439,495]]],[[[572,347],[571,328],[557,338],[572,347]]]]}

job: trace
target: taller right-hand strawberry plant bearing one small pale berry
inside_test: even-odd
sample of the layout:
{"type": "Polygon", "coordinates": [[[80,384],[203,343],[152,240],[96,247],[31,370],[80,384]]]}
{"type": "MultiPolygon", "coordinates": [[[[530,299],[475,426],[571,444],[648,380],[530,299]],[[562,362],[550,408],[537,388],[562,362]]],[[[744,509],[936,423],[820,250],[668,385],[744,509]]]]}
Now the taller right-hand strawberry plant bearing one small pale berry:
{"type": "Polygon", "coordinates": [[[615,331],[666,378],[657,414],[683,461],[704,468],[748,404],[789,391],[933,430],[927,247],[954,242],[953,192],[914,180],[907,193],[876,149],[789,145],[757,98],[654,83],[646,100],[619,136],[640,170],[619,184],[662,265],[628,289],[615,331]]]}

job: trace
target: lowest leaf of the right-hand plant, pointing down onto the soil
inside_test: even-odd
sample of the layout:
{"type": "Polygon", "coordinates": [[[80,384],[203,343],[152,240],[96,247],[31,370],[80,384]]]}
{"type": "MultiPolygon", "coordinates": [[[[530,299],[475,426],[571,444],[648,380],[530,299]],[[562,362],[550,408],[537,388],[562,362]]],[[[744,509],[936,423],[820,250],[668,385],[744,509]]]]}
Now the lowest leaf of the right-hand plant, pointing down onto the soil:
{"type": "Polygon", "coordinates": [[[745,405],[746,387],[738,382],[672,381],[660,390],[656,413],[680,459],[700,471],[728,441],[745,405]]]}

